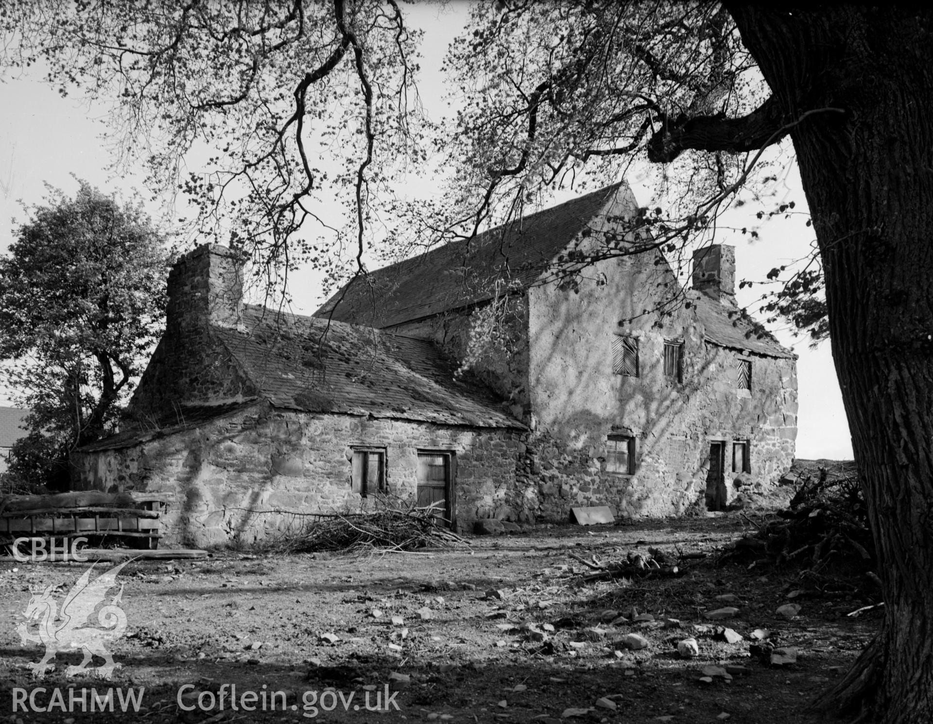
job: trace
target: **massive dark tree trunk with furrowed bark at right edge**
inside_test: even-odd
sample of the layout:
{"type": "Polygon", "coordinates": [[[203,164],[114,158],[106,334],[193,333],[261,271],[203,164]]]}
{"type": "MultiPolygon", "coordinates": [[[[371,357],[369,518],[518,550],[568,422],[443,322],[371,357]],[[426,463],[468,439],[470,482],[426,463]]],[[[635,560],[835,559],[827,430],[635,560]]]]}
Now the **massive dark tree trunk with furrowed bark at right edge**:
{"type": "Polygon", "coordinates": [[[826,276],[832,353],[884,623],[817,702],[933,721],[933,37],[886,5],[731,12],[785,117],[826,276]]]}

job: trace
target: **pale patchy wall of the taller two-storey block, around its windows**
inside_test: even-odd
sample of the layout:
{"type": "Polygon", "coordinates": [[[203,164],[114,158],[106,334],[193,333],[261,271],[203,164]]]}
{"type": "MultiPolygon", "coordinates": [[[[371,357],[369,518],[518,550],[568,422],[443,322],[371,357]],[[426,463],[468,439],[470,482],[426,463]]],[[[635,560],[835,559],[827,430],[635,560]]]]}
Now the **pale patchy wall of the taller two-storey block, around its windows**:
{"type": "Polygon", "coordinates": [[[714,440],[727,444],[727,458],[733,441],[749,443],[751,473],[727,473],[724,502],[789,468],[794,361],[751,355],[752,389],[737,389],[741,353],[705,342],[682,301],[665,305],[677,288],[665,263],[641,255],[600,263],[576,291],[529,290],[533,433],[519,473],[519,485],[536,487],[528,513],[564,519],[573,506],[609,505],[624,516],[678,514],[703,501],[714,440]],[[670,314],[643,313],[659,305],[670,314]],[[638,339],[639,376],[612,373],[615,335],[638,339]],[[684,343],[682,383],[663,375],[665,339],[684,343]],[[636,439],[633,475],[605,470],[613,432],[636,439]]]}

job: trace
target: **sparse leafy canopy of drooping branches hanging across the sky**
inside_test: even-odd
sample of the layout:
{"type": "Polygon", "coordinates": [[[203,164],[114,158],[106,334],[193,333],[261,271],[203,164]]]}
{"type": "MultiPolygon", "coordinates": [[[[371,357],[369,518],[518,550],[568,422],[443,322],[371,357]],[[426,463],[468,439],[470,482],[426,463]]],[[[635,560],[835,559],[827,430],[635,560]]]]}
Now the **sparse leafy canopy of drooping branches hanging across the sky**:
{"type": "MultiPolygon", "coordinates": [[[[597,257],[662,249],[682,264],[749,181],[735,152],[784,135],[765,122],[767,89],[731,15],[708,2],[474,6],[446,62],[453,133],[421,113],[421,33],[395,0],[21,0],[0,22],[7,68],[40,63],[63,95],[114,104],[120,163],[181,193],[200,237],[244,248],[269,280],[310,263],[327,289],[365,272],[364,256],[396,260],[519,218],[554,187],[645,172],[646,153],[680,156],[655,173],[663,212],[632,225],[651,243],[597,257]],[[712,155],[658,133],[747,113],[759,127],[712,155]],[[186,171],[191,157],[202,168],[186,171]],[[449,171],[444,194],[404,198],[403,174],[429,157],[449,171]]],[[[799,292],[771,310],[789,313],[799,292]]]]}

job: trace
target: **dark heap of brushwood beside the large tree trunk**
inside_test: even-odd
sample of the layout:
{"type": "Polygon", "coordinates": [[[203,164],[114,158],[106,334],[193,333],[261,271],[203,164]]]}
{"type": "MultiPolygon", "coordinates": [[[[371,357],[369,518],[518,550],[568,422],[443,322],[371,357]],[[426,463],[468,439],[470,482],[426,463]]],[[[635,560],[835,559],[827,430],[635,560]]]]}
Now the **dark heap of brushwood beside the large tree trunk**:
{"type": "Polygon", "coordinates": [[[801,478],[787,510],[769,518],[718,563],[795,567],[803,578],[866,577],[880,585],[868,510],[855,475],[820,468],[801,478]]]}

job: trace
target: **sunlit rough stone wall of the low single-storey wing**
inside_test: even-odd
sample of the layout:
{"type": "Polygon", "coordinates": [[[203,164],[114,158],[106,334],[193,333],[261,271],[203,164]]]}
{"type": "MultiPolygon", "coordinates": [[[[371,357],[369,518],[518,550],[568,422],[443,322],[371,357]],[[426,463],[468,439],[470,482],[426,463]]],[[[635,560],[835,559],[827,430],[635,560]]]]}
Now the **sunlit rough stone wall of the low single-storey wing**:
{"type": "Polygon", "coordinates": [[[413,502],[419,450],[455,456],[459,529],[477,518],[517,517],[515,461],[524,446],[511,430],[276,410],[257,404],[132,447],[78,453],[85,488],[175,496],[163,519],[164,545],[248,545],[300,524],[290,512],[374,505],[351,489],[354,446],[384,447],[392,496],[413,502]],[[259,511],[266,511],[261,513],[259,511]],[[280,511],[280,512],[272,512],[280,511]]]}

